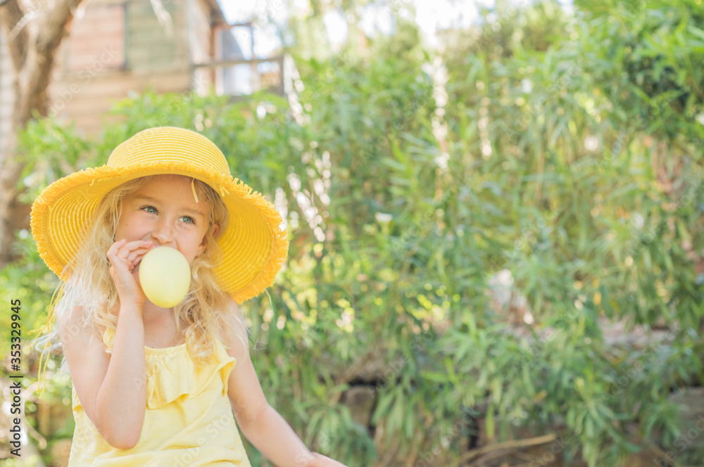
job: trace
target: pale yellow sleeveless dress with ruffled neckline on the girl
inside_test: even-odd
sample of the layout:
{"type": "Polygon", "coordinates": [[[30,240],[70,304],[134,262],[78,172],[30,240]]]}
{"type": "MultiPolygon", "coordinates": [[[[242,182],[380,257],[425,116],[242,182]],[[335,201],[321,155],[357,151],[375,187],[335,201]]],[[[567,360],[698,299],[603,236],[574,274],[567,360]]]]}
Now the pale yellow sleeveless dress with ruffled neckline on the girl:
{"type": "MultiPolygon", "coordinates": [[[[106,352],[115,331],[106,329],[106,352]]],[[[251,467],[234,421],[227,378],[235,364],[220,341],[207,364],[195,365],[186,344],[146,354],[146,414],[139,442],[117,449],[105,442],[73,388],[76,422],[69,467],[251,467]]],[[[142,386],[143,388],[143,386],[142,386]]]]}

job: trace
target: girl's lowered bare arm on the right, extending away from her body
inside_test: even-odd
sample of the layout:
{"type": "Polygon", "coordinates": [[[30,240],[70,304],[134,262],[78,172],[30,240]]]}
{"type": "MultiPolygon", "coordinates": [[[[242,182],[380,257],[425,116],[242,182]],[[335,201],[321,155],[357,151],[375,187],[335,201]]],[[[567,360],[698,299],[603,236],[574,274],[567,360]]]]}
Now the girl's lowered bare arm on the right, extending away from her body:
{"type": "Polygon", "coordinates": [[[242,433],[278,467],[344,467],[337,461],[311,453],[284,418],[268,404],[249,357],[249,343],[242,343],[237,337],[246,336],[246,329],[234,301],[229,311],[226,328],[231,348],[227,352],[237,359],[237,364],[227,380],[227,395],[242,433]]]}

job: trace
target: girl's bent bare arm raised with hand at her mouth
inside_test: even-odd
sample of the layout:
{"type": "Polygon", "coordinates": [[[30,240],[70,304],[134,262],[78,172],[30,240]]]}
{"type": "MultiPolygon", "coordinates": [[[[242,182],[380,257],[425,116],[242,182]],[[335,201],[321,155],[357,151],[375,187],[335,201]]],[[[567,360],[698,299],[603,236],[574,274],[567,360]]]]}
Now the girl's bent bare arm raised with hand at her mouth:
{"type": "Polygon", "coordinates": [[[131,275],[134,266],[129,264],[133,257],[144,255],[147,247],[143,243],[118,241],[108,250],[111,275],[121,299],[112,354],[106,354],[102,336],[84,326],[81,309],[73,309],[59,327],[83,410],[103,440],[119,449],[130,449],[137,444],[146,412],[144,299],[143,295],[134,294],[137,289],[132,287],[137,283],[129,283],[130,279],[134,281],[131,275]]]}

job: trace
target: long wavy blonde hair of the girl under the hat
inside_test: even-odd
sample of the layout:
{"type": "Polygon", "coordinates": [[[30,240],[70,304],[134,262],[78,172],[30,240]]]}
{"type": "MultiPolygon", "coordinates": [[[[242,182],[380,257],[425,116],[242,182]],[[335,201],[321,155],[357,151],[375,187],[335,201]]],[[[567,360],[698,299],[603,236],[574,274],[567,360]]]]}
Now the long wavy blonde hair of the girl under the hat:
{"type": "MultiPolygon", "coordinates": [[[[69,279],[57,289],[60,290],[60,297],[54,314],[59,324],[72,310],[77,309],[82,312],[82,325],[94,331],[104,328],[114,331],[117,327],[118,316],[110,310],[118,302],[118,293],[110,275],[106,253],[116,240],[122,199],[142,188],[152,177],[140,177],[113,188],[96,207],[85,226],[85,241],[66,266],[69,279]]],[[[191,287],[186,298],[173,308],[173,314],[177,335],[183,333],[191,355],[196,359],[206,359],[214,350],[214,338],[220,339],[227,347],[223,324],[232,323],[231,319],[241,322],[241,318],[230,316],[232,313],[227,310],[230,295],[222,291],[214,272],[222,259],[222,250],[213,236],[213,226],[218,224],[220,232],[225,230],[229,217],[227,207],[218,193],[203,181],[192,179],[191,186],[194,196],[197,194],[196,199],[205,200],[210,207],[204,238],[206,249],[191,262],[191,287]],[[182,321],[185,326],[181,326],[182,321]]],[[[51,326],[49,323],[49,327],[49,332],[34,341],[34,347],[42,353],[57,354],[62,347],[59,335],[61,326],[51,326]]],[[[240,328],[243,327],[246,328],[244,324],[240,328]]],[[[246,335],[238,337],[244,345],[248,345],[246,335]]],[[[63,359],[62,370],[66,369],[68,364],[63,359]]]]}

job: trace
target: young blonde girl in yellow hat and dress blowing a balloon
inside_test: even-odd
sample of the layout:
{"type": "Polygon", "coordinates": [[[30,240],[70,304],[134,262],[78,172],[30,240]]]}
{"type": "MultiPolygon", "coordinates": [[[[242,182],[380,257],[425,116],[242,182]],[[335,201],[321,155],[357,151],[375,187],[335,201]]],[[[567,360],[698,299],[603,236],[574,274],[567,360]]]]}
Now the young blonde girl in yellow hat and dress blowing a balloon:
{"type": "Polygon", "coordinates": [[[249,357],[237,302],[274,281],[281,222],[211,141],[173,127],[135,134],[37,198],[32,235],[63,283],[39,343],[63,349],[73,380],[69,466],[250,466],[237,426],[277,466],[342,466],[270,407],[249,357]],[[152,248],[191,266],[170,309],[139,286],[152,248]]]}

